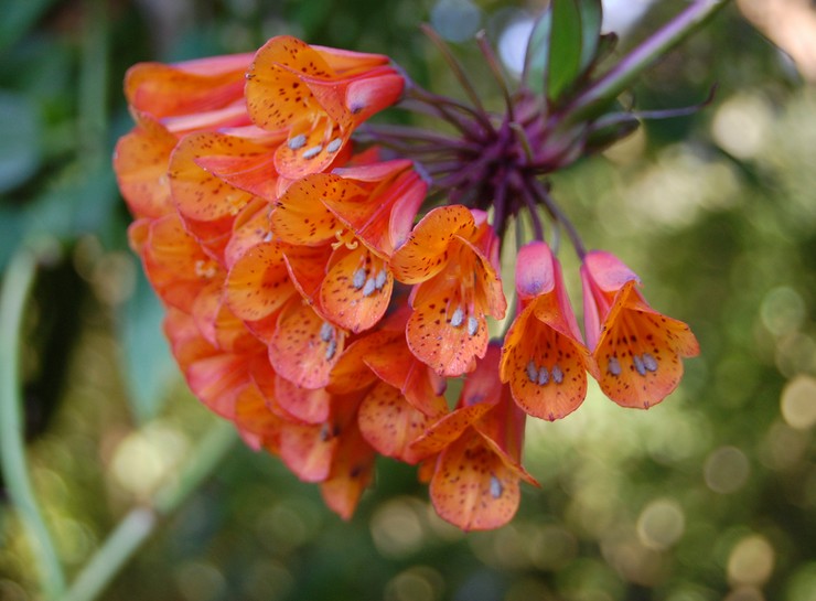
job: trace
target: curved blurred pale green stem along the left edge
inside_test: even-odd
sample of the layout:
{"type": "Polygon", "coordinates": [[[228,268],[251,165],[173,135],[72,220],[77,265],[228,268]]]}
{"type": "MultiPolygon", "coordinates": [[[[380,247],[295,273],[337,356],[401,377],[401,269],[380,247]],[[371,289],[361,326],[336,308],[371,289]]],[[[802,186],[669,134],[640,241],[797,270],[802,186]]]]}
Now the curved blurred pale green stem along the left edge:
{"type": "Polygon", "coordinates": [[[36,256],[22,249],[11,259],[0,292],[0,458],[9,496],[18,511],[40,572],[46,599],[61,599],[65,575],[34,495],[25,461],[20,341],[25,305],[36,273],[36,256]]]}

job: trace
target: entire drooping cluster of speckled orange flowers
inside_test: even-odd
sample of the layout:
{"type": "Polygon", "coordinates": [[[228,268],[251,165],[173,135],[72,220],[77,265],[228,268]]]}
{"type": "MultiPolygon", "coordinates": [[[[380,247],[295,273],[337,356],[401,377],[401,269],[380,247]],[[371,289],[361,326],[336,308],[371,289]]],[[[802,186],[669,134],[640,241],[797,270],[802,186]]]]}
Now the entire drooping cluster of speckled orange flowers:
{"type": "Polygon", "coordinates": [[[345,518],[379,454],[419,464],[444,519],[494,528],[535,483],[526,415],[575,410],[587,373],[621,405],[654,405],[697,343],[618,259],[589,253],[586,346],[543,242],[519,251],[518,312],[491,342],[487,318],[507,307],[488,213],[421,215],[431,182],[415,163],[352,139],[404,87],[386,56],[289,36],[139,64],[115,169],[173,355],[207,407],[345,518]],[[448,378],[463,375],[449,408],[448,378]]]}

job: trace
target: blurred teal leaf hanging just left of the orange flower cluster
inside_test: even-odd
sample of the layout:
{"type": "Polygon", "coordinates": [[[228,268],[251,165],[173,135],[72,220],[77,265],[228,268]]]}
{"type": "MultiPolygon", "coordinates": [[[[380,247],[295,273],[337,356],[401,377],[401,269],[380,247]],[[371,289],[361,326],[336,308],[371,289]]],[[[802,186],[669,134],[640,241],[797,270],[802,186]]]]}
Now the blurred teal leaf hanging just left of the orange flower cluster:
{"type": "Polygon", "coordinates": [[[176,369],[162,334],[164,309],[140,266],[135,269],[136,289],[121,305],[118,323],[130,408],[136,419],[144,423],[161,412],[167,385],[176,369]]]}

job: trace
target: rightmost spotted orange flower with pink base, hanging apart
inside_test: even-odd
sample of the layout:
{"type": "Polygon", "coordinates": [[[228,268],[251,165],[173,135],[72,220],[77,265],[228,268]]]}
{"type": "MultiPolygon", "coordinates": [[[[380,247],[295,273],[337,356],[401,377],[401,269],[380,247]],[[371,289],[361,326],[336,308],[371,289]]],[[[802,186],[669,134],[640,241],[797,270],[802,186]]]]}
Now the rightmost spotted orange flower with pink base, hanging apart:
{"type": "Polygon", "coordinates": [[[700,348],[688,325],[652,309],[640,279],[618,257],[593,250],[583,258],[587,340],[603,393],[624,407],[647,409],[683,376],[680,357],[700,348]]]}

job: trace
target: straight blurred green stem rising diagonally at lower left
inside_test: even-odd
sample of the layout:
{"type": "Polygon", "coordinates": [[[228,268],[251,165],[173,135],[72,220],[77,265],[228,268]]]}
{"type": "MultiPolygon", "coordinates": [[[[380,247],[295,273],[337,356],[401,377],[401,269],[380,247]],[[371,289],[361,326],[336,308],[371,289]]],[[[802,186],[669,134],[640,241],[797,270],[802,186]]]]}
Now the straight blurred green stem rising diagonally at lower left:
{"type": "Polygon", "coordinates": [[[153,534],[161,518],[181,506],[201,486],[236,440],[235,427],[219,419],[204,436],[176,479],[159,489],[149,506],[135,507],[125,516],[85,565],[62,601],[97,599],[153,534]]]}

